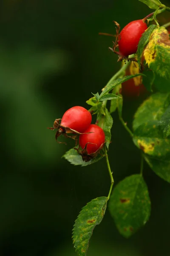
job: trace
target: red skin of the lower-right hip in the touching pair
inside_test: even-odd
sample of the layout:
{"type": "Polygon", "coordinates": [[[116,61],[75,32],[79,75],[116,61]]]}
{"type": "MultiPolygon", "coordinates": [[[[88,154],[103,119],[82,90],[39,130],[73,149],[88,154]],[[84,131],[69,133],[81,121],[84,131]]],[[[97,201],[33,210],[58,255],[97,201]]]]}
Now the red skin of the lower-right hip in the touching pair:
{"type": "Polygon", "coordinates": [[[88,143],[86,147],[88,154],[93,154],[100,147],[103,147],[105,143],[105,133],[102,128],[100,128],[98,125],[89,125],[89,127],[84,132],[93,132],[90,134],[81,134],[79,136],[79,145],[82,149],[85,148],[85,145],[88,143]]]}

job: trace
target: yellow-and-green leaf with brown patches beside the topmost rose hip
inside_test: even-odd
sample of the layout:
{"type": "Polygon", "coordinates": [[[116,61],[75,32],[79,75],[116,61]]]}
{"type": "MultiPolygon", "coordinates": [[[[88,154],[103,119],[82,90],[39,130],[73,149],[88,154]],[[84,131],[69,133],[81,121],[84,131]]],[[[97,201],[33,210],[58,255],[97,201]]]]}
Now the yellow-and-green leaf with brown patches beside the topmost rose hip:
{"type": "Polygon", "coordinates": [[[167,29],[154,29],[150,41],[144,49],[148,67],[159,76],[170,79],[170,38],[167,29]]]}

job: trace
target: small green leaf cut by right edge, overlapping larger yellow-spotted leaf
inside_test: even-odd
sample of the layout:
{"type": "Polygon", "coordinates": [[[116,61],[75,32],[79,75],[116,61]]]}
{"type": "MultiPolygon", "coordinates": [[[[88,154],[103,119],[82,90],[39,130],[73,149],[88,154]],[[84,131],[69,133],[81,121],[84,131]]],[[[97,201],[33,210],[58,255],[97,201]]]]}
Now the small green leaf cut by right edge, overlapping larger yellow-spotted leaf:
{"type": "Polygon", "coordinates": [[[161,116],[161,119],[159,120],[159,127],[163,131],[164,137],[170,135],[170,105],[165,113],[161,116]]]}

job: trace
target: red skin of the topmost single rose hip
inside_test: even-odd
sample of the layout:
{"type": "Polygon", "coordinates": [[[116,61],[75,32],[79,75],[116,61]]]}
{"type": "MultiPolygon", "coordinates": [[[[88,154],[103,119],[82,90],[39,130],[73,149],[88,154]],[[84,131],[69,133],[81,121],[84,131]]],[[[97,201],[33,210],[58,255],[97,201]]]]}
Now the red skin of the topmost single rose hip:
{"type": "Polygon", "coordinates": [[[123,56],[136,53],[139,40],[147,29],[147,24],[143,20],[133,20],[128,23],[120,32],[119,52],[123,56]]]}

